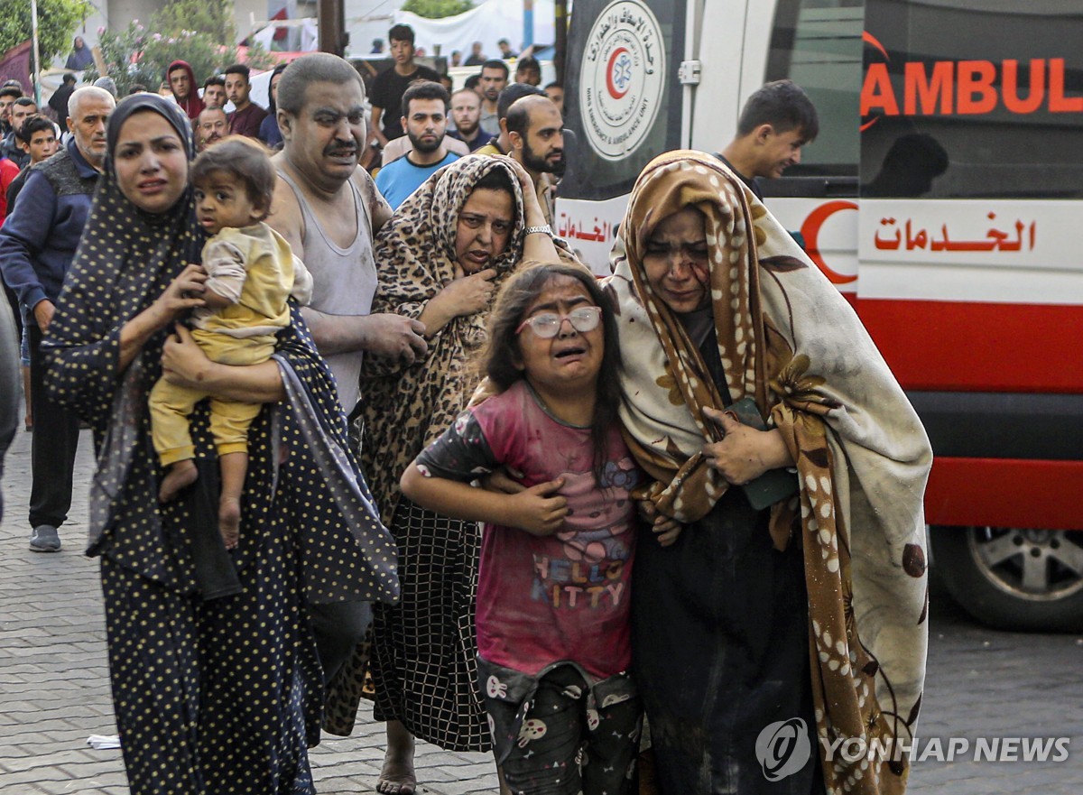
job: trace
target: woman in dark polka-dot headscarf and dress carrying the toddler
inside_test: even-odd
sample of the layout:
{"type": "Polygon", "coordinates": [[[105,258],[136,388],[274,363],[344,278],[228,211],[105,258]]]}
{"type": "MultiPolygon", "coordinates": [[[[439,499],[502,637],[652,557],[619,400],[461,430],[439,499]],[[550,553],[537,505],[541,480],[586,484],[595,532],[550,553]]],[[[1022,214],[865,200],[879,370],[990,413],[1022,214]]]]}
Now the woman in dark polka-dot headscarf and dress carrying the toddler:
{"type": "MultiPolygon", "coordinates": [[[[206,360],[174,323],[201,303],[192,131],[153,94],[121,102],[106,171],[45,347],[49,387],[94,429],[89,555],[101,557],[114,704],[133,795],[313,792],[323,698],[313,616],[397,597],[395,551],[296,307],[271,361],[206,360]],[[171,333],[174,333],[175,336],[171,333]],[[213,532],[213,444],[192,417],[195,486],[159,505],[146,395],[162,374],[263,403],[240,542],[213,532]],[[209,508],[208,508],[209,506],[209,508]]],[[[363,620],[360,620],[363,621],[363,620]]],[[[362,629],[363,627],[358,627],[362,629]]]]}

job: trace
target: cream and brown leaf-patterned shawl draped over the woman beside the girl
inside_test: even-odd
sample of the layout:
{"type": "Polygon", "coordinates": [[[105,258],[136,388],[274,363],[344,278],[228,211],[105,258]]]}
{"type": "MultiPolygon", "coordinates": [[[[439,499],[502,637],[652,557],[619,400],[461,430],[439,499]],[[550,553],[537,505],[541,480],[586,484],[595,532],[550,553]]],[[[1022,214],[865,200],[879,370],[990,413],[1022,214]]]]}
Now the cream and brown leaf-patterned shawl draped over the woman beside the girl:
{"type": "MultiPolygon", "coordinates": [[[[657,481],[644,496],[688,523],[704,520],[716,506],[725,508],[731,490],[701,453],[720,432],[702,408],[721,408],[727,392],[734,401],[753,398],[760,415],[781,431],[800,483],[796,498],[771,508],[766,532],[779,551],[798,544],[795,534],[800,538],[808,635],[779,640],[809,651],[817,735],[828,742],[911,739],[928,633],[922,496],[931,452],[867,333],[744,183],[700,153],[668,153],[648,165],[632,191],[614,265],[609,289],[619,307],[624,386],[632,396],[622,407],[622,420],[632,453],[657,481]],[[717,387],[683,325],[647,289],[642,259],[654,225],[687,206],[705,214],[712,242],[717,387]]],[[[650,565],[645,556],[640,563],[650,565]]],[[[669,585],[678,589],[682,583],[674,576],[669,585]]],[[[747,603],[751,595],[733,598],[747,603]]],[[[695,610],[690,598],[671,604],[695,610]]],[[[734,630],[719,622],[713,631],[719,643],[705,652],[714,655],[707,663],[726,666],[734,630]]],[[[721,676],[739,674],[725,669],[721,676]]],[[[656,668],[637,672],[652,687],[664,687],[667,675],[656,668]]],[[[652,726],[664,726],[679,715],[664,712],[656,719],[649,704],[648,717],[652,726]]],[[[822,744],[817,747],[823,752],[822,744]]],[[[758,765],[740,748],[732,753],[734,765],[758,765]]],[[[859,766],[860,760],[837,755],[825,759],[826,787],[841,789],[844,782],[859,793],[905,787],[905,758],[864,771],[859,766]]],[[[712,778],[710,786],[722,783],[712,778]]]]}

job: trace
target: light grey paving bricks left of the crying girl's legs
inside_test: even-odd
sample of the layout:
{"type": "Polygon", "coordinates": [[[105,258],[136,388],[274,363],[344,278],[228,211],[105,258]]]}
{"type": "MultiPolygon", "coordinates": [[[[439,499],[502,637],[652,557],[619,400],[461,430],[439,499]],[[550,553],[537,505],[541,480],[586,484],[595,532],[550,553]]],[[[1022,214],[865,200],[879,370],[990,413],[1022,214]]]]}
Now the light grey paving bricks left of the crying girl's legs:
{"type": "MultiPolygon", "coordinates": [[[[0,525],[0,793],[128,795],[119,751],[94,751],[91,734],[115,734],[97,561],[83,552],[90,432],[79,440],[75,499],[61,527],[64,549],[31,552],[26,506],[30,434],[8,453],[0,525]]],[[[383,725],[362,705],[354,735],[326,735],[312,752],[321,795],[371,793],[383,759],[383,725]]],[[[419,743],[420,792],[496,793],[487,754],[419,743]]]]}

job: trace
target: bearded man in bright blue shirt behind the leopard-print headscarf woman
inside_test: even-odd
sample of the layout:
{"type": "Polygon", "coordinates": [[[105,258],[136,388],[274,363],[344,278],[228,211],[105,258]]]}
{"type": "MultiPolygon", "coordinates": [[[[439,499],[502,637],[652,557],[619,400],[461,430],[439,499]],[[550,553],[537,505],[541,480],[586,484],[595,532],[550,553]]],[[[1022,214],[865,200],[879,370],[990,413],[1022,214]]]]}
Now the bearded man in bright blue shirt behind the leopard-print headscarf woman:
{"type": "Polygon", "coordinates": [[[403,129],[414,148],[376,174],[376,186],[397,209],[418,186],[459,156],[444,145],[447,131],[447,90],[439,82],[412,83],[403,94],[403,129]]]}

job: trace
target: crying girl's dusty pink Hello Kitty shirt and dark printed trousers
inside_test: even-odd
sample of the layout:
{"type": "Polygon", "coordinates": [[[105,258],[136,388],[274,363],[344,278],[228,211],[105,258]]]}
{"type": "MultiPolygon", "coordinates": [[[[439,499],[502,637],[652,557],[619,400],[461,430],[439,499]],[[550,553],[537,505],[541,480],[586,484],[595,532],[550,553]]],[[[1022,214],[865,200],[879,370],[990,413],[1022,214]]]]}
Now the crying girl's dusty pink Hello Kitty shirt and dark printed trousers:
{"type": "Polygon", "coordinates": [[[546,412],[525,380],[459,417],[417,457],[469,482],[500,466],[533,486],[564,479],[569,516],[535,536],[486,524],[478,587],[479,682],[513,792],[627,792],[640,705],[629,676],[630,582],[641,472],[616,427],[595,471],[589,428],[546,412]]]}

